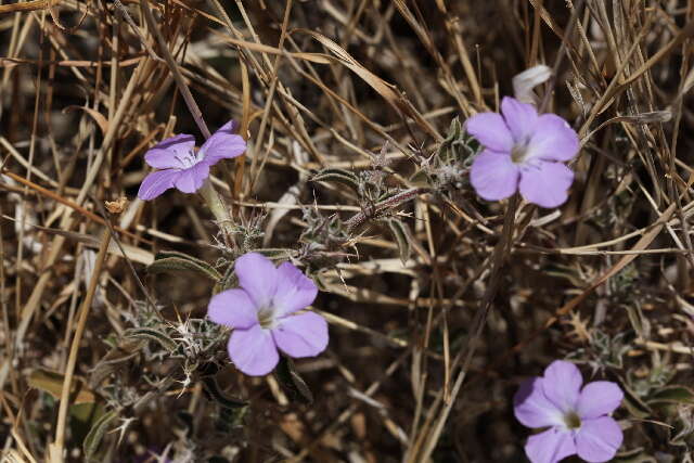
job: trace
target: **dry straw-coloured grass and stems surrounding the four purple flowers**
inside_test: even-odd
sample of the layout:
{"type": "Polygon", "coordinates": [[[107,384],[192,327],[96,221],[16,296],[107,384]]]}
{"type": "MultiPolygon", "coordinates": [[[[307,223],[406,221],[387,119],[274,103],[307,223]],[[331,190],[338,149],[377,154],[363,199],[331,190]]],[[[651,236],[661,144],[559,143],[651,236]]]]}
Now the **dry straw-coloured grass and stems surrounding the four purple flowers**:
{"type": "Polygon", "coordinates": [[[685,0],[0,4],[3,458],[520,461],[513,393],[568,357],[628,391],[620,461],[691,461],[693,36],[685,0]],[[483,202],[451,120],[539,63],[582,141],[569,202],[483,202]],[[230,118],[224,232],[137,200],[147,147],[230,118]],[[214,282],[145,271],[259,248],[323,290],[311,403],[229,364],[214,282]]]}

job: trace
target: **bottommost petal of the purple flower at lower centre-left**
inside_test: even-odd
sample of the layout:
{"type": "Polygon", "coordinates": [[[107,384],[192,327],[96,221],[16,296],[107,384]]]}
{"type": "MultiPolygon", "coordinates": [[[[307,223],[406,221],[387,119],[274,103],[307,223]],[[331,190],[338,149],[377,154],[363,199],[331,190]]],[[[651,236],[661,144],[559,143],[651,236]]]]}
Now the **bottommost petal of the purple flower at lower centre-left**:
{"type": "Polygon", "coordinates": [[[258,324],[248,330],[234,330],[227,348],[234,365],[250,376],[270,373],[280,361],[272,334],[258,324]]]}

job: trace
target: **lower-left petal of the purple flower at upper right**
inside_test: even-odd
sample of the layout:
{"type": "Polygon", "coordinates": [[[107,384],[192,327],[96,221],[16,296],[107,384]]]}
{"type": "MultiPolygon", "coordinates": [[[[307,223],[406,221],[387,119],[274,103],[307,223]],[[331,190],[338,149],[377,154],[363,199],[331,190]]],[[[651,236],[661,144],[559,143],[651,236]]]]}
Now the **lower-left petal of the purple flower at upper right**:
{"type": "Polygon", "coordinates": [[[475,157],[470,169],[470,182],[479,197],[505,200],[518,190],[520,169],[511,155],[485,150],[475,157]]]}

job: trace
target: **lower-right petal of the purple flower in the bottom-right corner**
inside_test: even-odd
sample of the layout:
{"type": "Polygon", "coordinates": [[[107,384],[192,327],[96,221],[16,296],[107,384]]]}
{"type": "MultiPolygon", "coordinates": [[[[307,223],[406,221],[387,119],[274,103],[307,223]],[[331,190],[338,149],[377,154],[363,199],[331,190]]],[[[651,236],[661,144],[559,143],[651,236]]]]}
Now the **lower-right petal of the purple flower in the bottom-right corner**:
{"type": "Polygon", "coordinates": [[[609,461],[621,447],[622,440],[621,428],[612,417],[584,420],[576,435],[578,456],[591,463],[609,461]]]}

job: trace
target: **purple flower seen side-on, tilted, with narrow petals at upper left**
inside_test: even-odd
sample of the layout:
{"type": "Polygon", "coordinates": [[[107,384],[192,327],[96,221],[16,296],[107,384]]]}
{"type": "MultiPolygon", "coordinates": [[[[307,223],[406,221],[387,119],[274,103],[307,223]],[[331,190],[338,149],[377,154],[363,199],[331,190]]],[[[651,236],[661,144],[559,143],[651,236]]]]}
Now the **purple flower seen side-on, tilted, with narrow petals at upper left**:
{"type": "Polygon", "coordinates": [[[246,151],[246,142],[234,132],[239,124],[230,120],[217,130],[196,152],[195,138],[179,134],[168,138],[144,155],[144,160],[155,169],[140,185],[138,197],[154,200],[166,190],[176,187],[183,193],[195,193],[209,177],[209,166],[220,159],[229,159],[246,151]]]}

